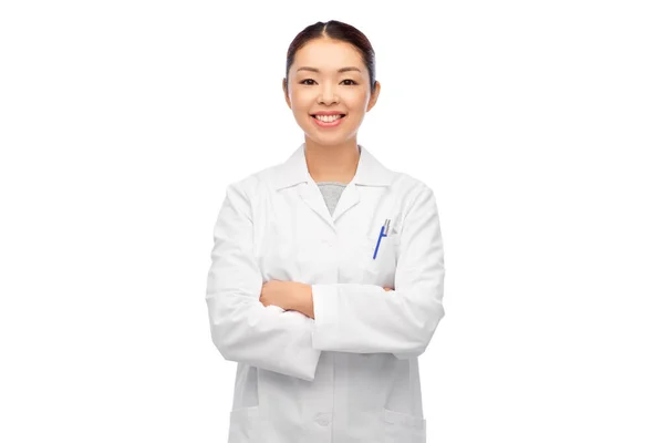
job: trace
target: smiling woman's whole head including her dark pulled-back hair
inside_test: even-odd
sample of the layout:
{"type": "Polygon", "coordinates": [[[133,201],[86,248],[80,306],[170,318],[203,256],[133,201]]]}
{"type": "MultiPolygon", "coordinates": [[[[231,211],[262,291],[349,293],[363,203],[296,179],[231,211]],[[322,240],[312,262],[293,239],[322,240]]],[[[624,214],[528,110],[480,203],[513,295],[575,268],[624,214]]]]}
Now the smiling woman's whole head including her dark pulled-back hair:
{"type": "Polygon", "coordinates": [[[312,141],[342,144],[353,140],[380,92],[374,50],[351,25],[319,22],[295,37],[288,49],[286,102],[312,141]]]}

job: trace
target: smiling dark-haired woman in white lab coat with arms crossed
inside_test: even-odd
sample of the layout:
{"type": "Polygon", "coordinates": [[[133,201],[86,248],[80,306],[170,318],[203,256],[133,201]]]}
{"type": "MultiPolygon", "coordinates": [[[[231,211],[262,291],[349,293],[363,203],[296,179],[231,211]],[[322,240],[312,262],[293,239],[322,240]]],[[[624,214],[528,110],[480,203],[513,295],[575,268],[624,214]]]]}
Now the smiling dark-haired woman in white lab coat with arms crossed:
{"type": "Polygon", "coordinates": [[[362,32],[305,28],[283,79],[304,143],[227,189],[207,302],[238,362],[229,443],[425,442],[443,240],[433,190],[357,143],[380,91],[362,32]]]}

